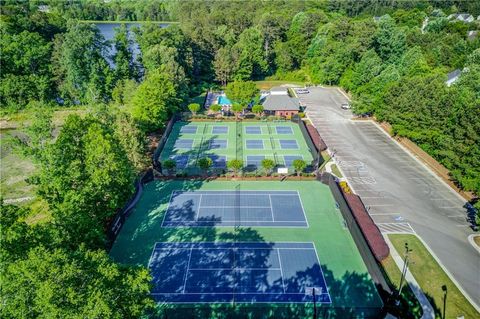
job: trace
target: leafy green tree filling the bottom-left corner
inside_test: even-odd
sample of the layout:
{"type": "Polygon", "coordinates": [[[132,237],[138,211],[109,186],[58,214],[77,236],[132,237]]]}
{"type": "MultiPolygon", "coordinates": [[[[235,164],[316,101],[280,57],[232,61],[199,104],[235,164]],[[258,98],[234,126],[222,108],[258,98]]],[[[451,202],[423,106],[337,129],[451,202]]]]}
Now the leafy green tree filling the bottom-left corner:
{"type": "Polygon", "coordinates": [[[138,318],[153,309],[150,280],[147,269],[120,266],[103,251],[37,247],[3,268],[2,314],[138,318]]]}

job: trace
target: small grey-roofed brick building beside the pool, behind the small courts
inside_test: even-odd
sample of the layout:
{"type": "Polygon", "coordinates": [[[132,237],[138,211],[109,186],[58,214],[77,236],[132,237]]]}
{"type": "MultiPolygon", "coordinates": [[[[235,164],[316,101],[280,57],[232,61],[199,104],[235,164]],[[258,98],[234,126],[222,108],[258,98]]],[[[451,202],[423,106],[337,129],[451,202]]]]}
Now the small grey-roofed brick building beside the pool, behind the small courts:
{"type": "Polygon", "coordinates": [[[265,114],[268,115],[292,116],[300,111],[298,99],[291,97],[288,89],[284,87],[273,87],[261,103],[265,114]]]}

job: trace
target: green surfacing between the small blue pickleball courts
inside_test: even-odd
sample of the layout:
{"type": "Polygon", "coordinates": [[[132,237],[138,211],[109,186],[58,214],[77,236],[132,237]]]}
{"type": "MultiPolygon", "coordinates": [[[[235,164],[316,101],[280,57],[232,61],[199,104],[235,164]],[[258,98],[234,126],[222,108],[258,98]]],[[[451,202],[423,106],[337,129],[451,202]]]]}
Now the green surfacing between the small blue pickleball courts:
{"type": "Polygon", "coordinates": [[[239,158],[243,160],[246,165],[248,155],[265,155],[266,158],[274,160],[277,164],[283,165],[285,163],[284,155],[300,155],[307,163],[311,163],[313,160],[312,154],[309,151],[307,143],[303,138],[298,124],[292,122],[239,122],[237,127],[236,122],[190,122],[191,125],[197,126],[197,133],[187,134],[182,133],[181,128],[188,125],[188,122],[175,123],[172,132],[165,144],[165,148],[160,154],[160,160],[164,161],[173,155],[188,155],[189,156],[189,168],[185,171],[188,173],[198,173],[196,168],[198,159],[207,155],[226,156],[227,161],[239,158]],[[212,130],[214,126],[227,126],[227,134],[213,134],[212,130]],[[260,126],[262,134],[246,134],[246,126],[260,126]],[[276,134],[276,126],[289,126],[292,128],[293,134],[276,134]],[[237,131],[237,128],[239,131],[237,131]],[[241,134],[240,145],[237,145],[238,134],[241,134]],[[178,138],[193,139],[194,149],[192,150],[176,150],[175,141],[178,138]],[[224,149],[209,150],[210,140],[213,138],[226,139],[227,147],[224,149]],[[247,149],[247,139],[262,139],[264,149],[247,149]],[[297,141],[299,149],[286,150],[280,148],[279,139],[294,139],[297,141]],[[237,152],[237,146],[241,146],[242,150],[237,152]]]}

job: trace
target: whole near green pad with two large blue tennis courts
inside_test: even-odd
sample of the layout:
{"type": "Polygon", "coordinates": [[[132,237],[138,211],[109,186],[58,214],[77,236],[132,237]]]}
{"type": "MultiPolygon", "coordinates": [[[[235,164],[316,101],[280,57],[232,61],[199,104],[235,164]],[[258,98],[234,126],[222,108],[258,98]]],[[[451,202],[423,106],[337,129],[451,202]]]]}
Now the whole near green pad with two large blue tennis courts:
{"type": "Polygon", "coordinates": [[[116,262],[149,267],[152,297],[171,309],[168,318],[204,310],[200,317],[211,318],[219,307],[225,308],[216,317],[257,318],[282,305],[301,315],[279,317],[311,317],[314,288],[319,307],[358,307],[359,317],[382,307],[330,189],[318,181],[155,180],[144,185],[109,253],[116,262]],[[287,195],[288,203],[272,206],[269,195],[287,195]],[[230,215],[216,213],[232,203],[230,215]],[[260,213],[249,216],[252,206],[260,213]],[[288,213],[288,224],[272,223],[267,208],[275,221],[288,213]],[[197,213],[222,216],[222,222],[228,215],[233,223],[207,219],[202,227],[197,213]],[[244,226],[247,218],[257,225],[244,226]],[[307,221],[308,227],[292,226],[307,221]],[[173,222],[191,227],[168,225],[173,222]]]}

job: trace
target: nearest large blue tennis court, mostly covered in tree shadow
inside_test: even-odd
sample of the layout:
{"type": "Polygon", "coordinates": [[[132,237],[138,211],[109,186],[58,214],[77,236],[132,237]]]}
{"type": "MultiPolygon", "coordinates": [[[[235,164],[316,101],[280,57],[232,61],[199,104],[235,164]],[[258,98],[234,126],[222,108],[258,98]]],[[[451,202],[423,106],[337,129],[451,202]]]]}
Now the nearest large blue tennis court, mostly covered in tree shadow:
{"type": "Polygon", "coordinates": [[[313,243],[156,243],[152,295],[167,303],[331,303],[313,243]]]}

